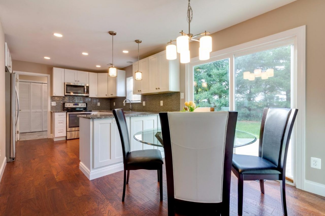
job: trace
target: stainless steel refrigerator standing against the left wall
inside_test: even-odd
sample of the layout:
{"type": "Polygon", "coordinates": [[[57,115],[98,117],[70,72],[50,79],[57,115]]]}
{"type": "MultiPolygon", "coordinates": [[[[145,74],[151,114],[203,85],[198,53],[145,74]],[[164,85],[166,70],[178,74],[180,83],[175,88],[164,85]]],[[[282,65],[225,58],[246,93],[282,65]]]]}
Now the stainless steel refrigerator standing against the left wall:
{"type": "Polygon", "coordinates": [[[17,74],[6,72],[6,158],[7,162],[15,160],[17,122],[19,118],[19,98],[16,87],[17,74]]]}

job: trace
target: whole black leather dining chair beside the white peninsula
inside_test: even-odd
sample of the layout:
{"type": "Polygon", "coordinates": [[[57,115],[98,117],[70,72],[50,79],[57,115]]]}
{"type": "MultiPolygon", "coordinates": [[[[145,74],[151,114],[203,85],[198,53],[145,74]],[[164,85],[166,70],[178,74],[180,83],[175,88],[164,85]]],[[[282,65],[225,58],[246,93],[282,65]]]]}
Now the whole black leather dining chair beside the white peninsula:
{"type": "Polygon", "coordinates": [[[125,115],[123,109],[113,109],[113,115],[120,132],[123,163],[124,163],[124,183],[123,197],[125,197],[125,187],[129,183],[130,170],[157,170],[158,182],[160,187],[160,200],[162,200],[162,154],[158,149],[147,149],[131,151],[129,132],[127,130],[125,115]],[[127,171],[127,177],[126,177],[127,171]]]}

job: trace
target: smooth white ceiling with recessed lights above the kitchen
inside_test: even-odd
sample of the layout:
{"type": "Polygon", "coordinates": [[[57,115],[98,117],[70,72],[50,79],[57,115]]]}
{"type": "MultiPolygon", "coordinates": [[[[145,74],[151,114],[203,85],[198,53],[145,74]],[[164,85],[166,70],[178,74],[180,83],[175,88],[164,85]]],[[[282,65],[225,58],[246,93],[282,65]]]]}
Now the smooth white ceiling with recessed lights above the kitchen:
{"type": "MultiPolygon", "coordinates": [[[[191,33],[217,32],[293,1],[192,0],[191,33]]],[[[112,57],[108,31],[117,32],[114,65],[123,68],[130,65],[127,61],[137,60],[134,40],[142,40],[140,57],[144,57],[162,50],[181,30],[188,32],[187,4],[187,0],[0,0],[0,18],[13,59],[103,70],[112,57]],[[63,37],[53,36],[54,32],[63,37]]]]}

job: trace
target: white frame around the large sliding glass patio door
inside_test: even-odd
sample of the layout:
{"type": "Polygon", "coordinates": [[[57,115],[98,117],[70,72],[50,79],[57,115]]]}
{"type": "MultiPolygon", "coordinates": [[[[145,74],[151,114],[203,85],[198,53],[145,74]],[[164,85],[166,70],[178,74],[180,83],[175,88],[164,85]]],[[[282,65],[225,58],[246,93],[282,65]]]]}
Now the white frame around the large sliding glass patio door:
{"type": "MultiPolygon", "coordinates": [[[[296,161],[296,168],[294,170],[294,184],[297,188],[305,189],[305,104],[306,104],[306,26],[300,26],[294,29],[290,29],[284,32],[276,33],[264,38],[253,40],[247,43],[235,45],[226,49],[218,50],[210,53],[211,58],[206,61],[200,61],[199,57],[190,59],[190,63],[185,64],[185,100],[193,100],[193,71],[191,68],[194,65],[204,64],[213,61],[213,59],[223,59],[227,56],[239,54],[245,51],[260,49],[272,44],[281,44],[285,41],[294,41],[294,76],[292,76],[292,82],[295,83],[294,89],[294,104],[293,107],[298,108],[298,115],[294,124],[295,134],[292,134],[292,138],[296,140],[296,146],[294,147],[294,155],[296,161]],[[297,88],[299,86],[299,88],[297,88]],[[299,95],[299,96],[297,96],[299,95]]],[[[233,67],[233,63],[230,63],[230,69],[233,67]]],[[[233,81],[230,71],[229,81],[233,81]]],[[[234,92],[230,90],[231,95],[234,92]]],[[[229,101],[229,105],[233,106],[233,101],[229,101]]]]}

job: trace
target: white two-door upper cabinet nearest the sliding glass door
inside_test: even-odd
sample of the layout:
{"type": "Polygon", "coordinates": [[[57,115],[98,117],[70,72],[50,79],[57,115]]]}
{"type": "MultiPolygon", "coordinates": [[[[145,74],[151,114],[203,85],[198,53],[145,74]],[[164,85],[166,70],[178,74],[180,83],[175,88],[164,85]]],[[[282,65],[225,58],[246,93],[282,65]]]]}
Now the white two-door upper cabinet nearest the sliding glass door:
{"type": "Polygon", "coordinates": [[[179,91],[179,61],[167,60],[166,51],[149,58],[149,93],[179,91]]]}

